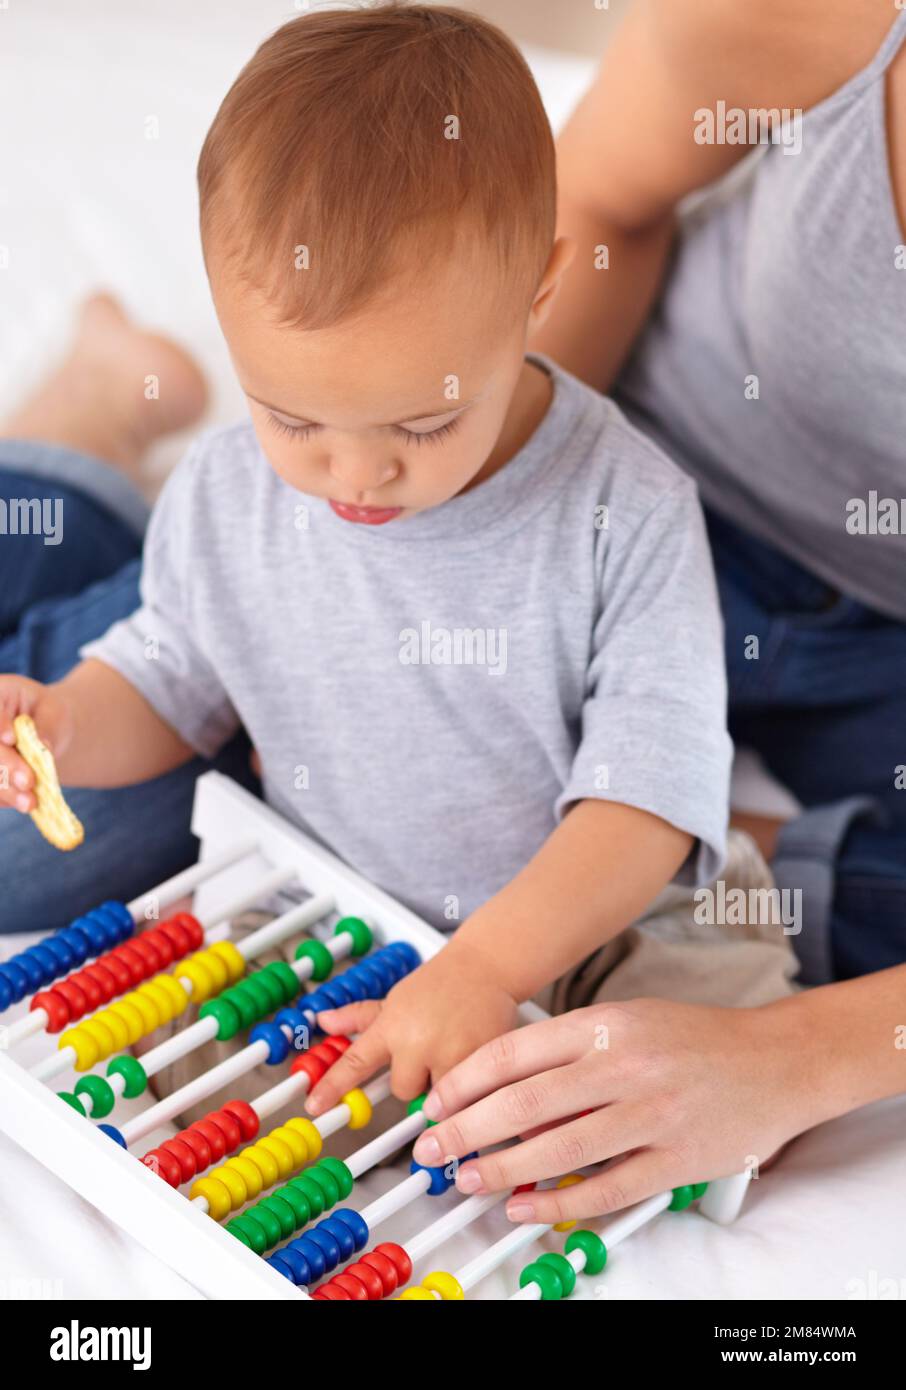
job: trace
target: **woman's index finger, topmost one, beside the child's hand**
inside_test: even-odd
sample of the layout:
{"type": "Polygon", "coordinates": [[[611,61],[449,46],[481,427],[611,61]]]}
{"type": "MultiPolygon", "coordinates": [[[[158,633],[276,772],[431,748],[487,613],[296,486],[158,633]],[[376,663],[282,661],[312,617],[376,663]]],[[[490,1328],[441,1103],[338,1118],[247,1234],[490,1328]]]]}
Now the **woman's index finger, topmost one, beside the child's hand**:
{"type": "MultiPolygon", "coordinates": [[[[593,1047],[593,1029],[591,1023],[582,1020],[582,1015],[592,1011],[575,1009],[564,1013],[559,1019],[545,1019],[543,1023],[531,1023],[524,1029],[514,1029],[500,1037],[485,1042],[471,1056],[464,1058],[452,1068],[432,1088],[425,1101],[425,1115],[431,1120],[443,1120],[447,1115],[456,1115],[467,1105],[491,1095],[510,1081],[521,1081],[535,1077],[539,1072],[563,1066],[581,1056],[586,1047],[593,1047]]],[[[582,1109],[577,1105],[575,1109],[582,1109]]],[[[556,1116],[568,1115],[568,1111],[557,1111],[556,1116]]],[[[531,1120],[532,1125],[542,1120],[531,1120]]],[[[502,1133],[499,1138],[511,1138],[529,1123],[502,1133]]],[[[486,1140],[485,1143],[492,1143],[486,1140]]],[[[467,1154],[467,1145],[463,1152],[467,1154]]]]}

